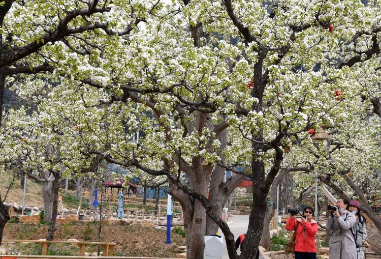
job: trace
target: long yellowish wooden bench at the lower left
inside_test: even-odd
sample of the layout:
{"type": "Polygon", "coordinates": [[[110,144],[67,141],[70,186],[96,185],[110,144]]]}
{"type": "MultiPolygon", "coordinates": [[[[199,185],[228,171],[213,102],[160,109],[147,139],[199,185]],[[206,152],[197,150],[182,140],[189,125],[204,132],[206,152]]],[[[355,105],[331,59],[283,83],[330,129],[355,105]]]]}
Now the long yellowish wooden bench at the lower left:
{"type": "Polygon", "coordinates": [[[105,242],[81,242],[81,241],[46,241],[46,240],[14,240],[14,239],[4,239],[3,243],[14,242],[14,243],[40,243],[41,244],[41,255],[46,255],[49,244],[76,244],[79,248],[79,256],[85,256],[86,245],[99,245],[103,249],[103,256],[114,255],[115,243],[105,243],[105,242]]]}

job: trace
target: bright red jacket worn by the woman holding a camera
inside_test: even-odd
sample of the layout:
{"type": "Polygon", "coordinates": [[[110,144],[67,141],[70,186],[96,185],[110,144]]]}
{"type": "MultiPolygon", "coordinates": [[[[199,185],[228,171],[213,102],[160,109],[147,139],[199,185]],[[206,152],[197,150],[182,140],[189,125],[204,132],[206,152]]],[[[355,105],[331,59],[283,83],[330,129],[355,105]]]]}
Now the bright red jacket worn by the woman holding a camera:
{"type": "Polygon", "coordinates": [[[317,233],[317,223],[313,219],[311,222],[302,223],[299,218],[290,217],[285,225],[285,229],[293,231],[298,223],[296,229],[295,251],[296,252],[316,252],[315,235],[317,233]]]}

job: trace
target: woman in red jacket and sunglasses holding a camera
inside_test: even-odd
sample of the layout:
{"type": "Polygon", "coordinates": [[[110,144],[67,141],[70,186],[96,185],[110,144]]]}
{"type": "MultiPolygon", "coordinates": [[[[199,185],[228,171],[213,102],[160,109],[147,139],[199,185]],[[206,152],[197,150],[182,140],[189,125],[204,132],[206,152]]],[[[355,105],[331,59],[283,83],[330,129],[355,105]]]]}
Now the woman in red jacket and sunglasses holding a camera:
{"type": "Polygon", "coordinates": [[[294,231],[298,225],[294,249],[295,259],[316,259],[315,235],[317,233],[317,223],[313,219],[315,216],[313,209],[311,207],[305,208],[303,215],[306,216],[306,218],[299,219],[290,215],[285,229],[294,231]]]}

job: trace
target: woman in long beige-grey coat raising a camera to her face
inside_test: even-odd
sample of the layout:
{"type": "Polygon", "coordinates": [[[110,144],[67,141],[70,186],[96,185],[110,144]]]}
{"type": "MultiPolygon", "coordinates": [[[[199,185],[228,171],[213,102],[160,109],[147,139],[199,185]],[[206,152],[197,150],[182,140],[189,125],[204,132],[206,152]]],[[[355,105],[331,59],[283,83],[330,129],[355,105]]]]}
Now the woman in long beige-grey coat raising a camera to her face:
{"type": "Polygon", "coordinates": [[[351,228],[356,223],[354,213],[348,211],[349,200],[339,198],[336,210],[330,211],[327,221],[327,235],[332,231],[329,241],[330,259],[357,259],[356,243],[351,228]]]}

